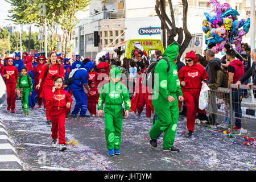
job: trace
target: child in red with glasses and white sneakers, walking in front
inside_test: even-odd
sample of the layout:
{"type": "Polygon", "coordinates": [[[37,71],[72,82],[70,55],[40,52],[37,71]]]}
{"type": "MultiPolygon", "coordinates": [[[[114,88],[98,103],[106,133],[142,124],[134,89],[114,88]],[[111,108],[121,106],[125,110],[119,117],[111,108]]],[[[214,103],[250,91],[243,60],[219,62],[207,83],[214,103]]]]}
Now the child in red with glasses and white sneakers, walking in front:
{"type": "Polygon", "coordinates": [[[51,110],[51,123],[52,123],[52,146],[57,146],[57,138],[59,135],[60,150],[67,149],[65,146],[65,118],[71,109],[72,98],[71,94],[63,90],[63,78],[56,76],[53,81],[52,91],[49,93],[49,102],[47,107],[51,110]]]}

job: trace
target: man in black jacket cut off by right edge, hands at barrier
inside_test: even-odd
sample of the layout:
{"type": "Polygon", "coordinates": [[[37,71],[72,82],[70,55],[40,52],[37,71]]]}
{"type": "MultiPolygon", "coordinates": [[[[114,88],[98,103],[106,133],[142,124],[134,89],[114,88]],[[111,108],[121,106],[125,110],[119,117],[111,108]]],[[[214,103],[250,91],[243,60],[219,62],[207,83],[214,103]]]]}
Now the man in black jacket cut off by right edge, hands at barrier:
{"type": "Polygon", "coordinates": [[[253,65],[250,69],[243,75],[236,83],[236,88],[238,89],[238,85],[241,85],[241,83],[245,82],[248,78],[251,76],[253,77],[253,81],[249,84],[247,84],[247,89],[250,90],[250,85],[256,84],[256,49],[253,49],[251,52],[251,59],[253,59],[253,65]]]}

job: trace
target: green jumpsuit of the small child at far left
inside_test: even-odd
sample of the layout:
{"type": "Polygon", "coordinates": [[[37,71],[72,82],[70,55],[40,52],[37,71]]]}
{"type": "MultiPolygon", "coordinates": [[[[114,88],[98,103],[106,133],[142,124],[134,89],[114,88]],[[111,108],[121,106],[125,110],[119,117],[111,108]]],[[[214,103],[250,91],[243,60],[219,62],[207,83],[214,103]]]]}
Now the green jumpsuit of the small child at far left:
{"type": "Polygon", "coordinates": [[[23,113],[28,113],[28,96],[30,92],[33,91],[33,84],[32,84],[31,77],[30,76],[27,77],[27,75],[26,76],[20,75],[16,83],[16,89],[22,89],[21,102],[22,102],[23,113]],[[21,77],[21,80],[20,80],[20,77],[21,77]],[[30,82],[30,84],[28,84],[28,81],[30,82]]]}

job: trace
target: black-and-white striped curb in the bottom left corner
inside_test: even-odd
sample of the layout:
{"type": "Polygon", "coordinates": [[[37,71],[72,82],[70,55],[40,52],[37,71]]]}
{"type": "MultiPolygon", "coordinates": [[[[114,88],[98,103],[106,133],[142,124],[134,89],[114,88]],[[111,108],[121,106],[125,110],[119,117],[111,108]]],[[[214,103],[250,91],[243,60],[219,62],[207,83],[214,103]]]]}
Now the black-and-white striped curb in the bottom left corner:
{"type": "Polygon", "coordinates": [[[17,154],[6,127],[0,119],[0,171],[23,171],[22,163],[17,154]]]}

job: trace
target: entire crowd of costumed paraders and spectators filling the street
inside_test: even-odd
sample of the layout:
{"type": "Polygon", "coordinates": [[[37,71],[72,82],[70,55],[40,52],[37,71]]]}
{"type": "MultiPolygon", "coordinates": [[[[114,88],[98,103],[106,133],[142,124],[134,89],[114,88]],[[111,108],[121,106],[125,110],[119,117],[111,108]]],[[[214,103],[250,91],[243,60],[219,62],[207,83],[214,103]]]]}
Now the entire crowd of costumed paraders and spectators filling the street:
{"type": "MultiPolygon", "coordinates": [[[[48,58],[24,52],[23,60],[15,52],[15,57],[3,60],[0,71],[7,88],[7,110],[15,113],[17,97],[21,99],[23,114],[42,109],[43,105],[46,122],[52,125],[53,147],[57,146],[59,138],[60,150],[67,149],[64,123],[69,113],[73,118],[89,118],[96,117],[98,109],[99,117],[104,108],[108,155],[118,155],[122,118],[127,118],[131,111],[141,117],[146,105],[145,119],[153,122],[149,132],[151,145],[157,147],[156,140],[164,132],[163,150],[179,152],[173,145],[179,115],[187,117],[189,137],[193,135],[196,119],[224,129],[230,125],[228,115],[220,123],[216,121],[215,114],[208,117],[207,110],[199,109],[200,90],[204,83],[211,89],[230,88],[231,84],[236,84],[232,92],[232,108],[236,116],[233,130],[241,129],[241,100],[247,96],[247,91],[237,90],[240,84],[247,84],[247,89],[250,89],[256,81],[255,53],[256,49],[251,51],[247,44],[242,44],[241,53],[226,44],[222,59],[216,58],[214,51],[208,49],[204,56],[188,52],[181,61],[179,46],[172,43],[164,52],[155,51],[157,64],[154,74],[158,74],[159,81],[152,88],[142,83],[152,63],[139,49],[130,59],[120,60],[120,56],[110,59],[107,54],[93,61],[90,57],[84,59],[76,55],[73,63],[56,51],[51,51],[48,58]],[[251,59],[254,61],[252,66],[251,59]],[[153,98],[156,93],[158,97],[153,98]],[[72,97],[76,104],[71,111],[72,97]],[[87,110],[90,115],[86,114],[87,110]]],[[[228,114],[229,102],[224,102],[228,114]]]]}

